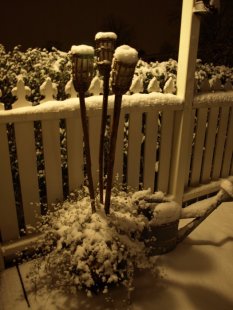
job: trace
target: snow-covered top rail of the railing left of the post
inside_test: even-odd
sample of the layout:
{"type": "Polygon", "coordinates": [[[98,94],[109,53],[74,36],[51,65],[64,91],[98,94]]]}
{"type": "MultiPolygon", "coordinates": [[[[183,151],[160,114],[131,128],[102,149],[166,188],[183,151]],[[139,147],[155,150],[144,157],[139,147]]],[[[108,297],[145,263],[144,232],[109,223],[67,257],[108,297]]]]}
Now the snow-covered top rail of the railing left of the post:
{"type": "MultiPolygon", "coordinates": [[[[86,98],[88,115],[101,113],[102,96],[91,96],[86,98]]],[[[109,113],[112,113],[114,96],[109,96],[109,113]]],[[[172,94],[134,94],[124,95],[122,110],[127,113],[132,109],[149,110],[182,110],[183,101],[172,94]]],[[[43,104],[31,107],[21,107],[12,110],[0,111],[0,124],[13,122],[27,122],[35,120],[62,119],[74,117],[74,112],[79,110],[79,98],[70,98],[64,101],[47,101],[43,104]]]]}

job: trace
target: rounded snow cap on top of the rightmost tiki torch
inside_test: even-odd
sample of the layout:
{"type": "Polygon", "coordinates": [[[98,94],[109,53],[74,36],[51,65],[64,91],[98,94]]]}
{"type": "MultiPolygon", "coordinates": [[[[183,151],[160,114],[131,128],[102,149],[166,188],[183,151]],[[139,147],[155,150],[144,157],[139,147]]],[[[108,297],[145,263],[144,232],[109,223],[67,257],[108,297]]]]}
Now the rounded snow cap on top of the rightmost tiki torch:
{"type": "Polygon", "coordinates": [[[133,65],[138,62],[138,52],[128,45],[121,45],[115,50],[114,58],[119,62],[133,65]]]}

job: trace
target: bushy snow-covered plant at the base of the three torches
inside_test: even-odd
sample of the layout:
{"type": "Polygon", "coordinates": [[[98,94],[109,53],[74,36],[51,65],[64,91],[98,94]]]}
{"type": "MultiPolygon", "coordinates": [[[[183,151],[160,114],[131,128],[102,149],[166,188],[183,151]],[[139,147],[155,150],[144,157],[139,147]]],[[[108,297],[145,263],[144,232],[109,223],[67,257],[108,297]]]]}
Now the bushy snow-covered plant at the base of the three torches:
{"type": "Polygon", "coordinates": [[[140,236],[147,219],[138,213],[132,193],[113,189],[106,216],[102,205],[92,213],[87,189],[72,194],[42,217],[41,240],[31,279],[61,289],[106,293],[122,284],[132,289],[135,268],[156,271],[140,236]]]}

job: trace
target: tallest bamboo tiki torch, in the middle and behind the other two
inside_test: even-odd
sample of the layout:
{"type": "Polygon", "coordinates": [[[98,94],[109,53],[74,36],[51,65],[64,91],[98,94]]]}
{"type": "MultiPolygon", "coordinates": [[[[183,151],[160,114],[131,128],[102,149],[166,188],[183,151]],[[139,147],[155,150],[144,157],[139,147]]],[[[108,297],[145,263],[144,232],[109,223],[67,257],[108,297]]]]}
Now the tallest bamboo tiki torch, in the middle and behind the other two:
{"type": "Polygon", "coordinates": [[[95,36],[95,52],[97,56],[97,66],[100,75],[103,76],[103,105],[102,120],[99,145],[99,192],[100,203],[103,203],[104,189],[104,135],[107,123],[109,77],[111,71],[112,57],[115,48],[117,35],[114,32],[98,32],[95,36]]]}

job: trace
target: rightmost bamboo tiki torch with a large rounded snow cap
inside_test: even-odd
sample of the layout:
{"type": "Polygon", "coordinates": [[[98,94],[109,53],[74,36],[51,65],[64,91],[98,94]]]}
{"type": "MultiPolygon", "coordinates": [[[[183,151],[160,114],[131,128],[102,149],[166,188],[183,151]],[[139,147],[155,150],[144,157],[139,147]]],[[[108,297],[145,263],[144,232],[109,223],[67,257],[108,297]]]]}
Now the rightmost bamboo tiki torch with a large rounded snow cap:
{"type": "Polygon", "coordinates": [[[134,48],[128,45],[122,45],[115,50],[111,71],[111,85],[113,93],[115,94],[115,101],[110,138],[110,150],[108,155],[107,186],[104,205],[106,214],[109,214],[110,212],[113,168],[115,161],[116,141],[121,112],[122,95],[126,93],[130,88],[137,61],[138,53],[134,48]]]}

